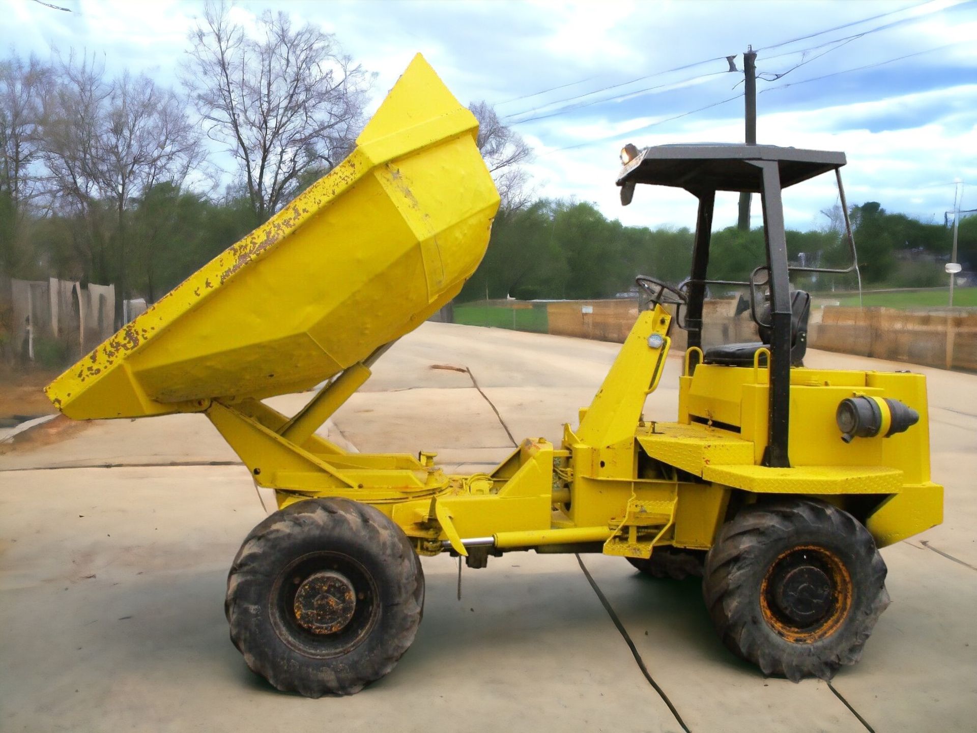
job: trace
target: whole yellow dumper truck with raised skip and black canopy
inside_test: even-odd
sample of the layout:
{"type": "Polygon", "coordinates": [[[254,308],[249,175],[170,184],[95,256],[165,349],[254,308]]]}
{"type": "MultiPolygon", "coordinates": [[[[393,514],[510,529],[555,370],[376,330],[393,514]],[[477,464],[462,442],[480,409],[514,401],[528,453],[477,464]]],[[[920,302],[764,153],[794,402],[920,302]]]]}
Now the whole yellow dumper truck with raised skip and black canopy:
{"type": "Polygon", "coordinates": [[[692,272],[638,279],[648,307],[561,445],[529,438],[491,472],[455,475],[430,453],[349,453],[317,434],[482,260],[499,199],[477,132],[418,56],[346,160],[47,394],[78,420],[201,413],[276,491],[226,608],[247,665],[281,690],[349,694],[390,672],[421,622],[419,555],[443,552],[471,567],[603,552],[701,574],[720,637],[764,673],[857,661],[888,603],[878,548],[938,524],[942,488],[922,376],[802,366],[810,299],[790,288],[781,190],[836,173],[841,153],[624,148],[625,203],[639,183],[698,197],[692,272]],[[742,283],[760,340],[703,349],[717,190],[763,203],[766,261],[742,283]],[[689,347],[664,423],[643,410],[676,323],[689,347]],[[262,401],[322,383],[292,416],[262,401]]]}

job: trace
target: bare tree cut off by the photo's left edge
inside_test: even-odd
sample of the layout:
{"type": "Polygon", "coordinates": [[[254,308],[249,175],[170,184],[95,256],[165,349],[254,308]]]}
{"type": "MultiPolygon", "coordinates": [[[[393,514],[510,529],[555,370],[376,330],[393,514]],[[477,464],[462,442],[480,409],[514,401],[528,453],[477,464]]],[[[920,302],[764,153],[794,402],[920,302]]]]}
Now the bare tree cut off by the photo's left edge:
{"type": "Polygon", "coordinates": [[[50,69],[34,57],[0,61],[0,266],[21,260],[21,228],[38,190],[40,125],[50,69]]]}

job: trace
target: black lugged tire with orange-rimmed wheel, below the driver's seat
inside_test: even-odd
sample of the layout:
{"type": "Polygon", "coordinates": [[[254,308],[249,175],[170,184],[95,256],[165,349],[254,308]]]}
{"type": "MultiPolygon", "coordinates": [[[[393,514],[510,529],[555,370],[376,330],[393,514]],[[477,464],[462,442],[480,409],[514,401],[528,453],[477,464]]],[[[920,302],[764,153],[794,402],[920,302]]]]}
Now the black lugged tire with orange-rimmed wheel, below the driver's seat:
{"type": "Polygon", "coordinates": [[[764,674],[830,679],[858,662],[889,605],[885,574],[851,514],[783,499],[746,507],[723,526],[702,593],[726,646],[764,674]]]}

